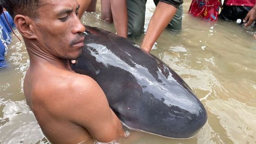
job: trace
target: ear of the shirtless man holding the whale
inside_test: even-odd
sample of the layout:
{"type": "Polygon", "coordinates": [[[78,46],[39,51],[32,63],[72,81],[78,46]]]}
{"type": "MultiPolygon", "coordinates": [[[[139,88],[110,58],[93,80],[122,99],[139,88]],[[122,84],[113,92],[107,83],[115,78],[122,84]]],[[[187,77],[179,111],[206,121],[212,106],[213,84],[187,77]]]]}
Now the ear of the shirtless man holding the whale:
{"type": "Polygon", "coordinates": [[[35,22],[32,18],[27,16],[17,14],[14,17],[14,23],[20,34],[27,39],[36,39],[37,35],[35,33],[35,22]]]}

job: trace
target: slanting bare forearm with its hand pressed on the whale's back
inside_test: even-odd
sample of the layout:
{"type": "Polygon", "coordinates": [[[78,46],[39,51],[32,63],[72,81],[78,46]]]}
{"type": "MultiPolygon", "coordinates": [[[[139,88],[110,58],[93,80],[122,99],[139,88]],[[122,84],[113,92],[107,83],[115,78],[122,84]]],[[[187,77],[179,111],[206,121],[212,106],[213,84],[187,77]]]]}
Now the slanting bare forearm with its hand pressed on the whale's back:
{"type": "Polygon", "coordinates": [[[159,2],[155,8],[155,12],[151,17],[146,35],[142,41],[141,49],[150,52],[155,41],[160,34],[165,30],[168,23],[174,17],[176,8],[173,5],[159,2]]]}

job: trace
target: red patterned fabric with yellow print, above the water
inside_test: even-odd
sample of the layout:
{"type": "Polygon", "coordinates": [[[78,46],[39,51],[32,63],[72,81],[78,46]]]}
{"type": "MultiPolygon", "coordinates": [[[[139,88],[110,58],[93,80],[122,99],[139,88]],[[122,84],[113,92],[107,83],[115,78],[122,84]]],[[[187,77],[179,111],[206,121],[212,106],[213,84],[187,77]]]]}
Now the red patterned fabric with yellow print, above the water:
{"type": "Polygon", "coordinates": [[[219,18],[219,5],[218,0],[192,0],[189,13],[195,17],[216,21],[219,18]]]}

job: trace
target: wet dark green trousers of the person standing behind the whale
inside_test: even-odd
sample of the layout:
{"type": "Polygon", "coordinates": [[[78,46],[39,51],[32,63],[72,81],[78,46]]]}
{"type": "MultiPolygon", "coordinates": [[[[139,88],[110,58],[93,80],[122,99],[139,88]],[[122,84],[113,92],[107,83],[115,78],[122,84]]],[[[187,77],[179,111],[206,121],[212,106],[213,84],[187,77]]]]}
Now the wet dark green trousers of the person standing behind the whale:
{"type": "MultiPolygon", "coordinates": [[[[159,0],[154,0],[157,5],[159,0]]],[[[128,36],[140,37],[144,33],[146,0],[126,0],[128,14],[128,36]]],[[[175,5],[174,5],[175,6],[175,5]]],[[[168,24],[172,30],[181,30],[183,6],[180,4],[174,18],[168,24]]]]}

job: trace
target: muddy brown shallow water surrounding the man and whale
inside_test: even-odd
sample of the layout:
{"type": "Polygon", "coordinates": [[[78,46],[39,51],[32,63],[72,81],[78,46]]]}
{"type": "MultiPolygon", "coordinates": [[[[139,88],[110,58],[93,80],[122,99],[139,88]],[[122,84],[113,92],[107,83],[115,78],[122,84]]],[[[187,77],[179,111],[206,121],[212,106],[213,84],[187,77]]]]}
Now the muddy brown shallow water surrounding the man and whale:
{"type": "MultiPolygon", "coordinates": [[[[205,106],[208,121],[190,139],[128,130],[130,135],[119,139],[119,144],[256,144],[255,29],[195,18],[187,13],[190,2],[184,0],[183,30],[166,29],[151,54],[187,82],[205,106]]],[[[148,0],[145,28],[154,9],[153,0],[148,0]]],[[[82,22],[114,32],[114,25],[100,18],[98,2],[96,13],[84,14],[82,22]]],[[[140,45],[142,38],[131,40],[140,45]]],[[[24,99],[23,77],[29,60],[24,43],[14,36],[6,59],[9,67],[0,69],[0,144],[50,144],[24,99]]]]}

